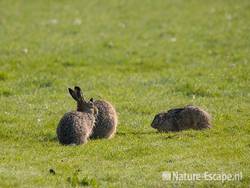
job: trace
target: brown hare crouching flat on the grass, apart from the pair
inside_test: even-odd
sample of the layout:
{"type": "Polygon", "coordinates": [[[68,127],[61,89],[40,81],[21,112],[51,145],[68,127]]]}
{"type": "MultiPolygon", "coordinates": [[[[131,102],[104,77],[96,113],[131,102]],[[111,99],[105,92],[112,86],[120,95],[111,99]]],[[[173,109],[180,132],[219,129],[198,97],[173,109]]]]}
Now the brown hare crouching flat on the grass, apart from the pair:
{"type": "Polygon", "coordinates": [[[157,114],[151,127],[159,132],[181,131],[186,129],[211,128],[211,116],[203,109],[195,106],[171,109],[157,114]]]}

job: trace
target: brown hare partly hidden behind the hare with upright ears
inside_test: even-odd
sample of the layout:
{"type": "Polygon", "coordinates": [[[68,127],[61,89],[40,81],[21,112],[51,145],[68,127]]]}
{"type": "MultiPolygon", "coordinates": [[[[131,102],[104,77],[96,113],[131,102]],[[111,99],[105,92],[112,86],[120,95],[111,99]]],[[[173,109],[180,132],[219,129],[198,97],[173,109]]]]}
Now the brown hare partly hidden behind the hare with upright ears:
{"type": "Polygon", "coordinates": [[[117,113],[111,103],[104,100],[94,101],[98,109],[93,133],[90,138],[111,138],[115,135],[118,123],[117,113]]]}

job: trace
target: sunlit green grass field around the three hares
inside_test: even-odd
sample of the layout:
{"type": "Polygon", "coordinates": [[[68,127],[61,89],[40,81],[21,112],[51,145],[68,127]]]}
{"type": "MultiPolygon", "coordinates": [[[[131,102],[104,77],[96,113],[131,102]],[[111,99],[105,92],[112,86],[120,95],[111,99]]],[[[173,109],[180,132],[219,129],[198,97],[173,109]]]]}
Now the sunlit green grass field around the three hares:
{"type": "Polygon", "coordinates": [[[248,187],[249,10],[248,0],[0,1],[0,187],[248,187]],[[113,139],[58,143],[74,85],[114,104],[113,139]],[[214,128],[150,127],[186,104],[214,128]],[[168,182],[164,171],[243,179],[168,182]]]}

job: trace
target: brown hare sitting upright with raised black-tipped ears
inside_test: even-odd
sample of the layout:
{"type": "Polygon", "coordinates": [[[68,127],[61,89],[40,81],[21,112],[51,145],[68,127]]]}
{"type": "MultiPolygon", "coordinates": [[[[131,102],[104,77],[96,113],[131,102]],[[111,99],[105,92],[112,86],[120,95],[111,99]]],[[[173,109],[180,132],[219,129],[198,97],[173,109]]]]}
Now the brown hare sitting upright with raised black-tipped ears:
{"type": "Polygon", "coordinates": [[[95,126],[95,116],[98,114],[93,99],[85,101],[81,88],[68,88],[70,95],[77,102],[77,110],[64,114],[57,126],[57,137],[61,144],[83,144],[92,134],[95,126]]]}

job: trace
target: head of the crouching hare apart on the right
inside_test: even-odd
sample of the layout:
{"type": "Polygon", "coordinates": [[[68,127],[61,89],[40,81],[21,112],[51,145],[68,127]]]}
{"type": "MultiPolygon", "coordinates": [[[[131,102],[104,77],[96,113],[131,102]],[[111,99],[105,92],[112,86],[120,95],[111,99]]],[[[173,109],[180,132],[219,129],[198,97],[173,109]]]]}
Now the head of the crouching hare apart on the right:
{"type": "Polygon", "coordinates": [[[169,113],[159,113],[154,117],[151,127],[157,129],[160,132],[174,131],[173,117],[169,113]]]}

